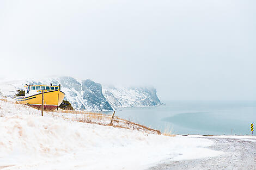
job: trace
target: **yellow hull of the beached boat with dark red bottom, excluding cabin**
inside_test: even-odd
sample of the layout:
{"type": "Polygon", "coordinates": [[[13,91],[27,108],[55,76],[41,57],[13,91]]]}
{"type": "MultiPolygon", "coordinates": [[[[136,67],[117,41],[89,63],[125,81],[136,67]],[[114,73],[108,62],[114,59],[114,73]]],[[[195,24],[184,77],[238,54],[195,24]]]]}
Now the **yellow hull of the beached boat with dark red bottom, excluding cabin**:
{"type": "MultiPolygon", "coordinates": [[[[44,110],[55,110],[63,101],[65,93],[59,90],[44,92],[44,110]]],[[[19,104],[27,104],[36,109],[41,109],[42,93],[28,97],[15,97],[19,104]]]]}

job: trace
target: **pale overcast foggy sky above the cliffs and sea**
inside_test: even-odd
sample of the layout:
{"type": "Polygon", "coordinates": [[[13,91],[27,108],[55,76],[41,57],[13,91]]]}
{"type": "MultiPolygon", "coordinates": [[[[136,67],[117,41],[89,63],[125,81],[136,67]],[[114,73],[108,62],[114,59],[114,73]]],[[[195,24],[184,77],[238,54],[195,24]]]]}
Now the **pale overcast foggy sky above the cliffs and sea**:
{"type": "Polygon", "coordinates": [[[0,72],[256,99],[256,1],[2,0],[0,72]]]}

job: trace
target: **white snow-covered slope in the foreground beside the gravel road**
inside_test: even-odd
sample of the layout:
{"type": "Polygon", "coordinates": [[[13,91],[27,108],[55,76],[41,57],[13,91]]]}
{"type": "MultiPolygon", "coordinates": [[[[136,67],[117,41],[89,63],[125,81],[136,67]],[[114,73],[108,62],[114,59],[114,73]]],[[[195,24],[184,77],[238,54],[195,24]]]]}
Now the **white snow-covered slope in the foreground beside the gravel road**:
{"type": "Polygon", "coordinates": [[[65,121],[0,100],[0,169],[146,169],[223,154],[205,138],[65,121]]]}

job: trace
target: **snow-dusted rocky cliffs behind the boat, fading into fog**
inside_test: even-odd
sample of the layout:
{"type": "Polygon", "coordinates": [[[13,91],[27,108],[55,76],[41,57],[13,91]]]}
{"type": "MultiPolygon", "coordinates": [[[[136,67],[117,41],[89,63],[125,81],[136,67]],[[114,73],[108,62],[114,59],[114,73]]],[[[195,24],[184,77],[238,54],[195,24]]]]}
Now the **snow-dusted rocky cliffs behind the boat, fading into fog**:
{"type": "Polygon", "coordinates": [[[25,84],[60,84],[74,109],[87,111],[111,111],[115,108],[161,105],[153,87],[102,87],[92,80],[58,77],[43,80],[9,81],[0,83],[5,87],[3,95],[14,96],[25,84]]]}

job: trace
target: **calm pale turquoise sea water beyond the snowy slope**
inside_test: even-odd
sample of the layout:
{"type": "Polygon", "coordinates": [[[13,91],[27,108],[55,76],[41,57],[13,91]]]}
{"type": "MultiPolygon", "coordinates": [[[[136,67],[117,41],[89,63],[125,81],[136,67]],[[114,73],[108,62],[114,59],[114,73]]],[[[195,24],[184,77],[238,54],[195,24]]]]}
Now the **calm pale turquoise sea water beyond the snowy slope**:
{"type": "MultiPolygon", "coordinates": [[[[173,134],[251,134],[256,101],[170,101],[147,108],[122,108],[116,116],[173,134]]],[[[108,113],[108,114],[112,114],[108,113]]],[[[255,125],[254,125],[255,126],[255,125]]]]}

